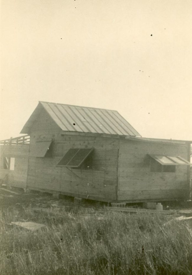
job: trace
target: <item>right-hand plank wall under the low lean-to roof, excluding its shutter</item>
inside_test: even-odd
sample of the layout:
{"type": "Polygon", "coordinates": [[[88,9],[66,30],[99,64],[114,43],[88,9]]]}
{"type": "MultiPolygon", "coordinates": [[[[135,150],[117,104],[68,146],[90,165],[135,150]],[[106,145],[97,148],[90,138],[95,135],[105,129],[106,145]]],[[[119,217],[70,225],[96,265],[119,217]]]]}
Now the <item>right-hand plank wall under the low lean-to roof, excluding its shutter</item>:
{"type": "Polygon", "coordinates": [[[120,140],[118,201],[173,200],[188,194],[188,167],[176,172],[150,172],[147,154],[179,155],[188,159],[188,146],[120,140]]]}

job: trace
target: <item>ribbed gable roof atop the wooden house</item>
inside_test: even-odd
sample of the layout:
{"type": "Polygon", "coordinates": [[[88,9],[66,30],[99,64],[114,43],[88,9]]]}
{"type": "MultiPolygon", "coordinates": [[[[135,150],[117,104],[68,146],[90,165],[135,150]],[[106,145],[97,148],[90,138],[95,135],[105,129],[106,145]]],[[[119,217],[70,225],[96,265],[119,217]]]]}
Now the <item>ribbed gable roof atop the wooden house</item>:
{"type": "Polygon", "coordinates": [[[141,136],[117,111],[39,101],[21,134],[29,134],[42,108],[63,131],[141,136]]]}

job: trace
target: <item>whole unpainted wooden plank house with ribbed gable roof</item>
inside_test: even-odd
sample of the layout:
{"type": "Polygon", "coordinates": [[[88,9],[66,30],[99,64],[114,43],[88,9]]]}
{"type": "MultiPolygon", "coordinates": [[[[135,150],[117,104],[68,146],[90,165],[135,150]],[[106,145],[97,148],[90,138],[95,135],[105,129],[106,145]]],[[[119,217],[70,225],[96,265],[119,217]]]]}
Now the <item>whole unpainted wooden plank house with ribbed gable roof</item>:
{"type": "Polygon", "coordinates": [[[106,202],[189,197],[192,142],[142,138],[117,111],[39,102],[21,133],[30,144],[1,141],[10,185],[106,202]]]}

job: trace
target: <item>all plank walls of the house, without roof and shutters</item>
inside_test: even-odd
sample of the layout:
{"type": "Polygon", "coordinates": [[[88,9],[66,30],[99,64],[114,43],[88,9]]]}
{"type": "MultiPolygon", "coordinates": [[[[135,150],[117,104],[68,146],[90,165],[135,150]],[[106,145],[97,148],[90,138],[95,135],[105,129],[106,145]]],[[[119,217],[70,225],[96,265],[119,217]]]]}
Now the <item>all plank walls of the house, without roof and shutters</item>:
{"type": "Polygon", "coordinates": [[[30,145],[8,145],[6,150],[1,145],[1,179],[9,185],[108,202],[173,200],[189,195],[187,166],[176,166],[176,172],[150,172],[147,159],[147,154],[188,159],[188,145],[64,133],[43,109],[28,134],[30,145]],[[48,139],[53,139],[52,157],[30,156],[36,141],[48,139]],[[92,169],[56,166],[69,149],[92,147],[92,169]],[[3,157],[15,157],[14,171],[4,169],[3,157]]]}

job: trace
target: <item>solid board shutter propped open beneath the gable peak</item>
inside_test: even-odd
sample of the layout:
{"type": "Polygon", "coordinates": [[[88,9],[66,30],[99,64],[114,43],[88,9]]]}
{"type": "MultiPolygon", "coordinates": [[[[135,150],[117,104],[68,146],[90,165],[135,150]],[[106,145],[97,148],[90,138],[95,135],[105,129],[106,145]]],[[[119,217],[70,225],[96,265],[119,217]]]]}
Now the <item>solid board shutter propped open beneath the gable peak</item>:
{"type": "Polygon", "coordinates": [[[50,157],[52,140],[36,141],[30,148],[30,157],[50,157]]]}

